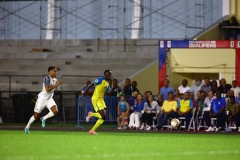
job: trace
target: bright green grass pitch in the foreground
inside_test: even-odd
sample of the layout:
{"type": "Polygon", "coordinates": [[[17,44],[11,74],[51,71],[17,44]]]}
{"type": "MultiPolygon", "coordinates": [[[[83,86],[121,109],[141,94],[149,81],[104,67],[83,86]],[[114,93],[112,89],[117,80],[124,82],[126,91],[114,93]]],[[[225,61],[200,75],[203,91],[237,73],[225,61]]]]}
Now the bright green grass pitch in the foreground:
{"type": "Polygon", "coordinates": [[[239,160],[240,135],[0,130],[1,160],[239,160]]]}

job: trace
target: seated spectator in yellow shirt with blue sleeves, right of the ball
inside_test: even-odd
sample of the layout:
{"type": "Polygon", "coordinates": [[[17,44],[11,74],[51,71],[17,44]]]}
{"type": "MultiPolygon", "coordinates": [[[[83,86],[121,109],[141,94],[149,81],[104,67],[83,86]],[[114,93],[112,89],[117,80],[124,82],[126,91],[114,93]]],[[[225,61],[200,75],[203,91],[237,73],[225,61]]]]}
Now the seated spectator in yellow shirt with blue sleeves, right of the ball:
{"type": "Polygon", "coordinates": [[[189,93],[185,92],[183,94],[183,99],[178,101],[178,116],[185,117],[186,125],[185,130],[188,129],[190,120],[192,118],[192,109],[193,109],[193,102],[189,98],[189,93]]]}

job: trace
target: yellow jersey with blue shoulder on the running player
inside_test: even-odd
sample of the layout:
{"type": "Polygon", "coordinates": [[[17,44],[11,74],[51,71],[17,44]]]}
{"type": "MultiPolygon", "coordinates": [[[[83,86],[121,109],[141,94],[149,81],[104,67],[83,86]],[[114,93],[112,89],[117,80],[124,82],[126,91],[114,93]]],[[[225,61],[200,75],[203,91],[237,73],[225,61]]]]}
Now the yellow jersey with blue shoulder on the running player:
{"type": "Polygon", "coordinates": [[[92,98],[103,98],[105,93],[111,90],[108,81],[104,77],[97,78],[93,83],[95,84],[95,90],[92,98]]]}

